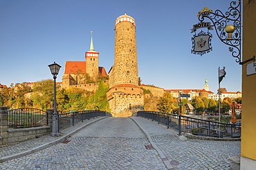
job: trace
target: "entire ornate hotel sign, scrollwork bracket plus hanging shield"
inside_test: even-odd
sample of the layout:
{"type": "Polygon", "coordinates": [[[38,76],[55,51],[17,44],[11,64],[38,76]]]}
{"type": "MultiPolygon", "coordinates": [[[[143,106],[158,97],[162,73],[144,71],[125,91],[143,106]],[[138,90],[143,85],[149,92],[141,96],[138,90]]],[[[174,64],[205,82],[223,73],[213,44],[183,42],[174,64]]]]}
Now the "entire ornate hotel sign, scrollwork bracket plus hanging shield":
{"type": "MultiPolygon", "coordinates": [[[[248,61],[255,60],[255,57],[247,61],[241,60],[241,3],[241,0],[230,1],[230,6],[226,12],[222,12],[221,10],[212,11],[207,7],[203,8],[200,12],[197,13],[199,23],[193,25],[193,28],[190,29],[192,32],[196,32],[197,29],[203,28],[208,28],[208,32],[209,30],[214,30],[214,32],[216,32],[217,38],[222,43],[229,46],[228,50],[230,51],[231,55],[235,57],[235,61],[240,65],[247,63],[248,61]]],[[[192,38],[192,54],[203,55],[206,52],[210,52],[209,50],[211,50],[211,47],[209,50],[206,50],[207,45],[203,45],[203,47],[202,45],[196,46],[197,41],[200,41],[201,38],[205,39],[203,42],[206,44],[208,37],[201,36],[196,39],[195,37],[197,36],[200,35],[195,34],[192,38]]],[[[201,42],[199,42],[199,44],[201,44],[201,42]]]]}

